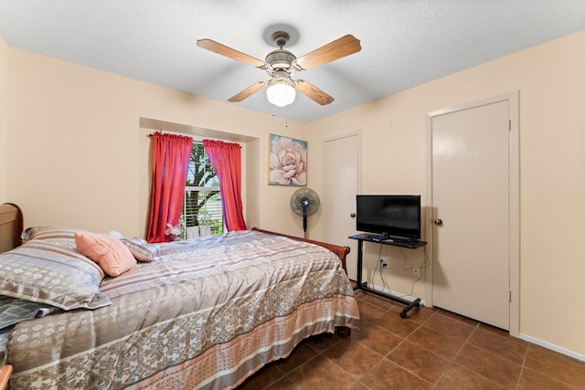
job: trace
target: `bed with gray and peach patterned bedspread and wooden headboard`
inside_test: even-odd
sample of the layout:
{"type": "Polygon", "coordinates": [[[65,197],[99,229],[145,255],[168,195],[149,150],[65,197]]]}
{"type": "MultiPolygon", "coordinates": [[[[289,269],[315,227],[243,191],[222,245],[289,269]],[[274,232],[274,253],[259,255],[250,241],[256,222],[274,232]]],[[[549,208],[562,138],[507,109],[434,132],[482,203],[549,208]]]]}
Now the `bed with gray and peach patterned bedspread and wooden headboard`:
{"type": "Polygon", "coordinates": [[[0,221],[0,307],[27,307],[0,330],[13,390],[236,388],[304,339],[358,326],[349,248],[261,229],[115,237],[137,261],[113,277],[78,250],[83,230],[33,227],[18,246],[22,213],[0,216],[15,209],[0,221]]]}

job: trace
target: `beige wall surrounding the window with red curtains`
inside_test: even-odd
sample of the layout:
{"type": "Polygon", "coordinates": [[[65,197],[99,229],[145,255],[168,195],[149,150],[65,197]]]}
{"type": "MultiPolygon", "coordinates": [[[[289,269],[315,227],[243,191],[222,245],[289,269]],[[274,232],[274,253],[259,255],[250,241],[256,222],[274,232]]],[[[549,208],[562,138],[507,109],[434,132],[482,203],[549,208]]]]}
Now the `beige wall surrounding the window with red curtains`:
{"type": "MultiPolygon", "coordinates": [[[[142,235],[146,136],[153,130],[141,129],[140,120],[150,118],[194,132],[246,136],[251,140],[246,184],[255,184],[245,184],[247,219],[254,226],[298,233],[288,212],[292,189],[265,184],[268,131],[280,120],[14,47],[8,53],[6,188],[23,207],[27,226],[142,235]]],[[[302,126],[288,125],[287,133],[299,137],[302,126]]]]}

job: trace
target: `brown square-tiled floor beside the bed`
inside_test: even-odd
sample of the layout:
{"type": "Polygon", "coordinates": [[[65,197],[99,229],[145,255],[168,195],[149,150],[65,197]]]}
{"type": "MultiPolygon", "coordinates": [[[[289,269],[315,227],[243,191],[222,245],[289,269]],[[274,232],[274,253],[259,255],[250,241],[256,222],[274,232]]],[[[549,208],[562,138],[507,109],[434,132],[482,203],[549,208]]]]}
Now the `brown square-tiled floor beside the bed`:
{"type": "Polygon", "coordinates": [[[484,323],[356,291],[360,330],[306,340],[238,390],[585,389],[585,363],[484,323]]]}

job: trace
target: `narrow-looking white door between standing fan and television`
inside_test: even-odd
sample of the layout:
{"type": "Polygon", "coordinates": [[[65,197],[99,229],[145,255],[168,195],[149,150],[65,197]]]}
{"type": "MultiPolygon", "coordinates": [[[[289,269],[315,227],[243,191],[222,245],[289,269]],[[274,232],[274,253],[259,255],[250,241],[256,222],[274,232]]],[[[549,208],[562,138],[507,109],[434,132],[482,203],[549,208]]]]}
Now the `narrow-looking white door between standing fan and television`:
{"type": "Polygon", "coordinates": [[[359,133],[324,142],[324,241],[351,248],[349,279],[357,279],[356,195],[359,190],[359,133]]]}

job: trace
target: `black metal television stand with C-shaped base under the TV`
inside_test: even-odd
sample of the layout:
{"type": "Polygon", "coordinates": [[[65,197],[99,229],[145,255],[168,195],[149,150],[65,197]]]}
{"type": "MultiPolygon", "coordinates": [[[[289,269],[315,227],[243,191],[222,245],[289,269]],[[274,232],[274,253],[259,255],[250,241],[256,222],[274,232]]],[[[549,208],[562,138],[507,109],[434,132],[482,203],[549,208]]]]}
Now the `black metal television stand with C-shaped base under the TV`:
{"type": "Polygon", "coordinates": [[[402,304],[405,304],[406,307],[402,311],[400,311],[400,318],[406,318],[407,313],[412,308],[415,308],[415,307],[418,308],[420,306],[420,298],[417,298],[417,299],[412,300],[412,301],[405,300],[403,298],[396,297],[394,295],[387,294],[387,293],[382,292],[382,291],[370,289],[362,283],[362,266],[363,266],[363,260],[364,260],[364,258],[363,258],[363,256],[364,256],[364,241],[375,242],[375,243],[383,244],[383,245],[391,245],[391,246],[400,247],[400,248],[410,248],[410,249],[424,247],[425,245],[427,245],[426,241],[420,241],[420,240],[413,241],[413,240],[402,239],[402,238],[397,239],[397,238],[393,238],[393,237],[376,236],[376,235],[366,234],[366,233],[357,234],[354,236],[349,236],[349,238],[357,240],[357,280],[356,280],[357,287],[356,287],[356,289],[372,292],[372,293],[377,294],[381,297],[388,298],[390,300],[396,300],[402,304]]]}

